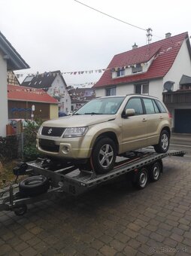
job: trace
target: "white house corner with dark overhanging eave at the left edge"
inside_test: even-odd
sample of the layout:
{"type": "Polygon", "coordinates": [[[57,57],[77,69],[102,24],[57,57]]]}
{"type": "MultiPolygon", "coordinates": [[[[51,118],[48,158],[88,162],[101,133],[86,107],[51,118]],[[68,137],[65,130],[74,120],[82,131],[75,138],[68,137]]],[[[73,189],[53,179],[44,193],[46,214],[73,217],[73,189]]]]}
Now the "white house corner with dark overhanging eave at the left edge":
{"type": "Polygon", "coordinates": [[[6,136],[6,124],[8,124],[7,72],[19,69],[29,69],[29,65],[0,32],[0,136],[6,136]]]}

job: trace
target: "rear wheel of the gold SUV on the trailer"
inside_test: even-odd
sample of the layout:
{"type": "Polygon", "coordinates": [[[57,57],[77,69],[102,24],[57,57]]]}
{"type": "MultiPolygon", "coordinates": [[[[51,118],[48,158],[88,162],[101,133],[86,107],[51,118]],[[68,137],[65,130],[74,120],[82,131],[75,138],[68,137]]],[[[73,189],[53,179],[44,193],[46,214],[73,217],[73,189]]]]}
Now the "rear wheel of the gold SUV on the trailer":
{"type": "Polygon", "coordinates": [[[170,136],[167,130],[162,130],[159,137],[159,144],[154,145],[154,149],[157,153],[165,153],[169,148],[170,136]]]}

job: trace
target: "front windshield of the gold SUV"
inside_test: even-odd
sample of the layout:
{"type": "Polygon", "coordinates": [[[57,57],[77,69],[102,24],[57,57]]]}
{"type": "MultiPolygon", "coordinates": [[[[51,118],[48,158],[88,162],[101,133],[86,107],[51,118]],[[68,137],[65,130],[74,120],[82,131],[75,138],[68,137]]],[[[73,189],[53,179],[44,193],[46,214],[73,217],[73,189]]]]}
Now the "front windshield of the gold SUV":
{"type": "Polygon", "coordinates": [[[93,99],[74,114],[116,114],[125,96],[93,99]]]}

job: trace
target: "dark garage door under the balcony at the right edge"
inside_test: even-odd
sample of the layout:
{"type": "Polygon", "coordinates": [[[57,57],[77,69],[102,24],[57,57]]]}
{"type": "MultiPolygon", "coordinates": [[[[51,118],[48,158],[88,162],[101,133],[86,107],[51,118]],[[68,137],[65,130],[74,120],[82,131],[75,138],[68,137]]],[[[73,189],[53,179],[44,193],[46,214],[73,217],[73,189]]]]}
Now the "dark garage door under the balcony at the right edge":
{"type": "Polygon", "coordinates": [[[175,109],[175,133],[191,133],[191,109],[175,109]]]}

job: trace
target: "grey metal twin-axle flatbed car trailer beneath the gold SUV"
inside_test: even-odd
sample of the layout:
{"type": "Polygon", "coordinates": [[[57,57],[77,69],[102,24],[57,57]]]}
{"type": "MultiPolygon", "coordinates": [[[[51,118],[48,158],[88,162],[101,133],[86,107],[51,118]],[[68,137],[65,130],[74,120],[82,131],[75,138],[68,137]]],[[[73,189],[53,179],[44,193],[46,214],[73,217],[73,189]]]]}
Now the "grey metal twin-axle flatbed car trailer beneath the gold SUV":
{"type": "Polygon", "coordinates": [[[147,148],[132,151],[123,157],[117,157],[114,169],[105,174],[97,174],[93,169],[77,169],[72,163],[48,158],[20,163],[14,168],[14,174],[17,178],[20,175],[29,177],[19,183],[16,178],[14,184],[0,190],[0,211],[14,211],[16,215],[24,215],[28,204],[47,200],[51,194],[66,193],[77,196],[122,175],[129,175],[133,184],[143,189],[149,178],[150,181],[159,179],[163,167],[162,158],[183,157],[184,154],[184,151],[159,154],[147,148]]]}

